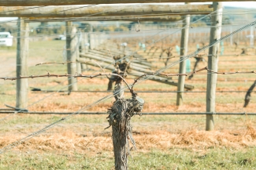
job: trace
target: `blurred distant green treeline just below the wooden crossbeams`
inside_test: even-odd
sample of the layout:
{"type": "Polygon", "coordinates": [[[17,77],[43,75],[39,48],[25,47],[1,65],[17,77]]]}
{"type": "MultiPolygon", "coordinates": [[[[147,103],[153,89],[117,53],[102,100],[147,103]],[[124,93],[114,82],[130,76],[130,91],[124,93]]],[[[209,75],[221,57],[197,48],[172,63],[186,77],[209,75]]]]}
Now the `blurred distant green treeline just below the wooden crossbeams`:
{"type": "MultiPolygon", "coordinates": [[[[196,20],[201,19],[202,16],[191,16],[191,22],[195,22],[196,20]]],[[[233,16],[224,15],[222,24],[228,25],[231,24],[231,20],[235,20],[233,16]]],[[[119,25],[113,24],[89,24],[83,22],[73,22],[76,27],[79,28],[80,31],[83,32],[90,32],[90,31],[97,31],[97,32],[108,32],[108,31],[131,31],[132,27],[135,27],[137,22],[131,23],[121,23],[119,25]]],[[[158,27],[177,27],[176,24],[170,24],[169,22],[146,22],[143,24],[155,24],[158,27]]],[[[192,27],[202,27],[202,26],[210,26],[211,19],[210,16],[199,20],[195,24],[191,24],[192,27]]],[[[181,26],[178,24],[178,27],[181,26]]],[[[1,32],[10,32],[11,34],[17,33],[17,27],[12,27],[9,24],[0,24],[0,31],[1,32]]],[[[30,27],[30,34],[65,34],[65,24],[63,22],[59,22],[57,24],[52,24],[48,22],[41,22],[37,27],[30,27]]]]}

